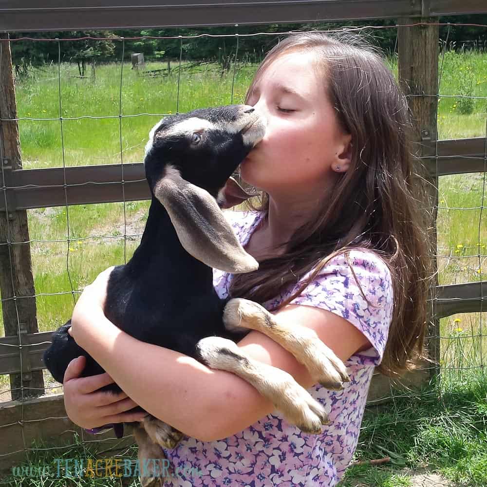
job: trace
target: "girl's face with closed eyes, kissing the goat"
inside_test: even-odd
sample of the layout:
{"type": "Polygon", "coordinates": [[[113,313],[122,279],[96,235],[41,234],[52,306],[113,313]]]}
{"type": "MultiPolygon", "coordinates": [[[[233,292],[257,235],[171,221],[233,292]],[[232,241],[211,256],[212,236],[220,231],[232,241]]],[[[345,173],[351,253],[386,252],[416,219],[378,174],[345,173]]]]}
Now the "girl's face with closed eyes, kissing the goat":
{"type": "Polygon", "coordinates": [[[351,135],[339,125],[318,72],[313,53],[294,52],[275,59],[256,83],[247,104],[262,112],[267,126],[241,164],[247,183],[269,194],[319,194],[347,169],[351,135]]]}

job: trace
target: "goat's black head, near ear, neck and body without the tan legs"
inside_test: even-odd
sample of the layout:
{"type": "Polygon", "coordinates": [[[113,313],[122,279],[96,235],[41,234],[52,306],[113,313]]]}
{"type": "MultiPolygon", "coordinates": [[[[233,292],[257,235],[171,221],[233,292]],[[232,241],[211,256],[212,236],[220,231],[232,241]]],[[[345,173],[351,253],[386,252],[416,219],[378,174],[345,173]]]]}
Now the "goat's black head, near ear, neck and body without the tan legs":
{"type": "MultiPolygon", "coordinates": [[[[264,131],[262,115],[245,105],[177,114],[152,128],[144,158],[152,194],[149,217],[133,257],[112,270],[107,287],[104,312],[121,330],[201,362],[202,338],[243,337],[225,330],[228,300],[216,294],[210,266],[229,272],[258,266],[235,239],[217,201],[264,131]]],[[[80,355],[87,358],[82,376],[105,372],[68,334],[70,326],[68,321],[53,333],[44,353],[53,377],[63,382],[69,362],[80,355]]],[[[100,390],[121,392],[114,383],[100,390]]],[[[121,437],[123,425],[113,426],[121,437]]]]}

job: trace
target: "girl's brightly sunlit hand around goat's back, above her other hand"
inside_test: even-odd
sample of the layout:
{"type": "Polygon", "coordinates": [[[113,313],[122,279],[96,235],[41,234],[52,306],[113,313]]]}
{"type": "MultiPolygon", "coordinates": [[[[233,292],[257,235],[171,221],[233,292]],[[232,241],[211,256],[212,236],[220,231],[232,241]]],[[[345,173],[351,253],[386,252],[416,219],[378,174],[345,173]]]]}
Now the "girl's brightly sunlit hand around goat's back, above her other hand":
{"type": "Polygon", "coordinates": [[[68,333],[78,345],[80,343],[79,340],[76,340],[76,332],[79,336],[80,328],[88,326],[89,323],[95,323],[104,316],[103,309],[107,298],[107,285],[113,268],[113,266],[109,267],[98,274],[93,283],[83,289],[76,302],[68,333]]]}

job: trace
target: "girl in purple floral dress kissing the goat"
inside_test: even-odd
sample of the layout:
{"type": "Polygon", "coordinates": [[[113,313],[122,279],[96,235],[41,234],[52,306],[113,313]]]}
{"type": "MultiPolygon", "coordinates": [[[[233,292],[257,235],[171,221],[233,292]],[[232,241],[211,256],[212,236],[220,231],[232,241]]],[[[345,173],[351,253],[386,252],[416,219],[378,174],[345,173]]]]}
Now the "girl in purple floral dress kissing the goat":
{"type": "Polygon", "coordinates": [[[215,271],[214,284],[222,297],[255,300],[290,326],[313,329],[345,362],[351,381],[328,391],[259,332],[238,344],[293,375],[331,423],[303,433],[236,375],[120,331],[102,311],[109,272],[84,290],[71,328],[107,373],[81,378],[84,358],[73,360],[66,412],[94,428],[140,420],[143,413],[127,412],[140,405],[185,433],[166,456],[198,471],[179,471],[169,485],[335,486],[356,449],[375,367],[401,375],[423,356],[430,270],[412,196],[406,100],[371,48],[299,33],[268,53],[246,103],[268,121],[241,165],[262,199],[230,215],[260,267],[238,276],[215,271]],[[126,394],[95,392],[113,381],[126,394]]]}

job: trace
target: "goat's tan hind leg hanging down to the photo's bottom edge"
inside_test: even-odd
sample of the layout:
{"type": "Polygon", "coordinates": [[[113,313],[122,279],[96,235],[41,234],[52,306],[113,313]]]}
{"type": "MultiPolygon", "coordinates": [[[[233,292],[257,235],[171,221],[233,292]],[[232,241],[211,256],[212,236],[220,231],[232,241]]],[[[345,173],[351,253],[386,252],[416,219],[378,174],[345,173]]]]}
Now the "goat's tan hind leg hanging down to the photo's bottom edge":
{"type": "Polygon", "coordinates": [[[142,424],[134,426],[132,431],[139,447],[139,481],[142,487],[163,487],[172,477],[173,469],[161,447],[155,444],[142,424]]]}

